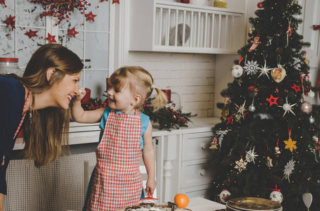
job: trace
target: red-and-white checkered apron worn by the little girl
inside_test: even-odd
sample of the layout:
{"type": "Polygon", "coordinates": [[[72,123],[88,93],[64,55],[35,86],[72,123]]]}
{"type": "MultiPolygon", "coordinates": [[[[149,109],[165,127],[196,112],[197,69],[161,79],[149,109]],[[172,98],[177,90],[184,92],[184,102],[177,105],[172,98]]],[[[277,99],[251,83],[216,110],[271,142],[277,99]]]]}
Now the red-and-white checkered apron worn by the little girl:
{"type": "Polygon", "coordinates": [[[141,117],[138,110],[119,114],[112,110],[95,150],[97,165],[87,210],[113,211],[140,202],[142,185],[139,163],[141,117]]]}

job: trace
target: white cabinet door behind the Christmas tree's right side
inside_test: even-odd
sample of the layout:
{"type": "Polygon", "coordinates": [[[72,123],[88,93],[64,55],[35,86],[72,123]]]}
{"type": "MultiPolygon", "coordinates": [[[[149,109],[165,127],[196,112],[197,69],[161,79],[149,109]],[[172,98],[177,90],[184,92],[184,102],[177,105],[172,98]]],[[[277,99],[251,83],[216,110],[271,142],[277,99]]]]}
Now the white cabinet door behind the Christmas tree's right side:
{"type": "MultiPolygon", "coordinates": [[[[312,25],[320,25],[320,1],[302,0],[299,3],[302,5],[303,18],[303,23],[300,25],[300,34],[303,35],[304,41],[309,41],[311,44],[306,51],[310,65],[310,80],[312,86],[316,86],[320,77],[320,30],[314,30],[312,25]]],[[[310,103],[320,103],[318,94],[314,98],[306,98],[306,100],[310,103]]]]}

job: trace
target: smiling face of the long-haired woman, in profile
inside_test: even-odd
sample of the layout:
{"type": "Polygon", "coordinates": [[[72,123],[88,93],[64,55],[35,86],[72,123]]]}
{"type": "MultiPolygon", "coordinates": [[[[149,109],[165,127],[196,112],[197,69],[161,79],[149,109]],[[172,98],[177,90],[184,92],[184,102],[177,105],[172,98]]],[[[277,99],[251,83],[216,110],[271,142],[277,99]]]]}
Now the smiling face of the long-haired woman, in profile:
{"type": "Polygon", "coordinates": [[[81,72],[77,75],[65,75],[59,83],[54,83],[51,88],[54,107],[68,109],[73,96],[79,94],[79,81],[81,72]]]}

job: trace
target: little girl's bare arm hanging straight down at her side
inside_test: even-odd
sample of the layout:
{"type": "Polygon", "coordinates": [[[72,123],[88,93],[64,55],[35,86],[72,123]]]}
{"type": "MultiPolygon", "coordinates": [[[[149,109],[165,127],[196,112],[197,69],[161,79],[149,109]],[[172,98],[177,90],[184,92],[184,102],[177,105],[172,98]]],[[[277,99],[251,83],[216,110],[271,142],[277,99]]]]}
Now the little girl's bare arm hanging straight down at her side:
{"type": "Polygon", "coordinates": [[[152,141],[152,124],[149,121],[148,128],[143,134],[143,162],[146,166],[148,180],[146,184],[146,192],[150,192],[153,195],[155,191],[155,151],[153,150],[152,141]]]}

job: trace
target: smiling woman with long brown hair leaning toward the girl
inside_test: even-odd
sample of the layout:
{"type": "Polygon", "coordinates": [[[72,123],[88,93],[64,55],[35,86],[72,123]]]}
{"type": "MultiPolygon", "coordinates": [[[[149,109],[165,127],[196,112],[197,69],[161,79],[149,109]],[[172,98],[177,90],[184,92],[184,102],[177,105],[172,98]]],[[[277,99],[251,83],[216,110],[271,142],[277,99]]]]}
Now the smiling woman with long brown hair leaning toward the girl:
{"type": "Polygon", "coordinates": [[[6,194],[6,168],[20,129],[23,153],[36,167],[65,152],[69,103],[79,94],[82,69],[76,53],[59,44],[45,44],[32,55],[23,77],[0,75],[0,211],[6,194]]]}

